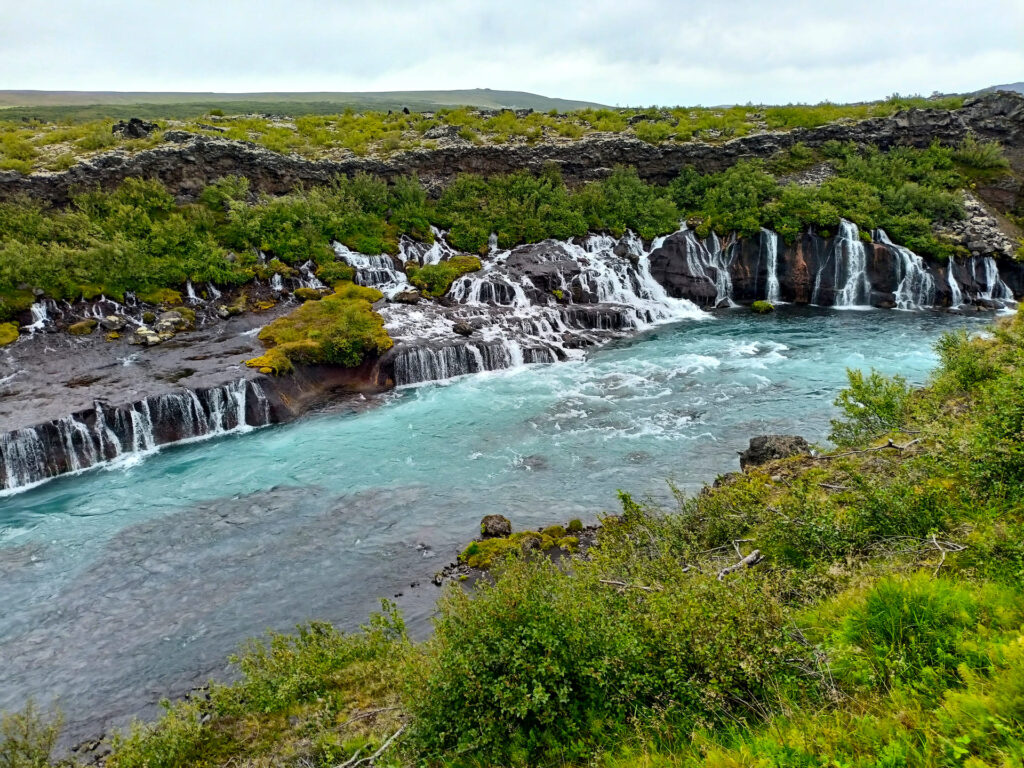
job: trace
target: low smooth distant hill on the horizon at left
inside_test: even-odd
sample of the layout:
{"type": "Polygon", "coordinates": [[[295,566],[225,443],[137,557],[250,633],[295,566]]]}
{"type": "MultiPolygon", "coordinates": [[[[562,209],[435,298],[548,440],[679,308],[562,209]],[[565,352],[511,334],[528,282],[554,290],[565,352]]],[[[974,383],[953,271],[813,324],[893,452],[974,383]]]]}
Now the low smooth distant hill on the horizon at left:
{"type": "Polygon", "coordinates": [[[489,88],[451,91],[352,92],[147,92],[147,91],[15,91],[0,90],[0,116],[4,118],[184,118],[219,109],[226,113],[278,115],[326,114],[353,110],[432,112],[443,106],[481,109],[531,109],[571,112],[603,104],[549,98],[525,91],[489,88]]]}

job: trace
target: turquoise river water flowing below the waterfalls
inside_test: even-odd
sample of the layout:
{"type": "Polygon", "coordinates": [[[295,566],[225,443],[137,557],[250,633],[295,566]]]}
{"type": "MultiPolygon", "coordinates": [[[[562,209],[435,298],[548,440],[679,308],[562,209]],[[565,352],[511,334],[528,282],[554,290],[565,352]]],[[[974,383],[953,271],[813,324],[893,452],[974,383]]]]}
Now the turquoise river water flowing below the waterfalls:
{"type": "Polygon", "coordinates": [[[923,382],[942,331],[987,319],[737,309],[2,500],[0,710],[56,699],[90,735],[224,674],[247,637],[355,627],[384,596],[422,636],[431,574],[484,514],[538,526],[618,488],[696,489],[754,434],[822,440],[848,367],[923,382]]]}

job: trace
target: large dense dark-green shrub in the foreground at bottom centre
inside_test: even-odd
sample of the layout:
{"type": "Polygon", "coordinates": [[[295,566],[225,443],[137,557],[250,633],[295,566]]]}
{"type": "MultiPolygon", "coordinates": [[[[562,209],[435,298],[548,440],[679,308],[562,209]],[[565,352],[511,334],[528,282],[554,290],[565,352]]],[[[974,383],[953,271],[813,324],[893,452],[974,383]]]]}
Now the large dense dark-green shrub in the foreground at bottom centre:
{"type": "Polygon", "coordinates": [[[445,593],[409,697],[428,759],[575,762],[633,726],[685,730],[771,706],[791,643],[759,586],[680,579],[627,594],[598,575],[511,561],[473,596],[445,593]]]}

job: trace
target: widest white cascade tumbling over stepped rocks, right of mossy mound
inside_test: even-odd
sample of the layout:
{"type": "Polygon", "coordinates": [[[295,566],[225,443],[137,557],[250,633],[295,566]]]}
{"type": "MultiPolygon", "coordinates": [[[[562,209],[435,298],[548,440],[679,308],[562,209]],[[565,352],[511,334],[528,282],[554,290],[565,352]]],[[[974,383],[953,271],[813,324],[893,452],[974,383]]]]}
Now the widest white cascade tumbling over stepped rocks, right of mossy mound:
{"type": "Polygon", "coordinates": [[[384,307],[397,342],[395,383],[580,358],[581,347],[613,335],[706,317],[692,302],[669,297],[651,276],[650,250],[630,232],[617,241],[590,236],[496,251],[478,272],[456,281],[451,306],[384,307]],[[470,338],[455,334],[457,322],[475,329],[470,338]]]}

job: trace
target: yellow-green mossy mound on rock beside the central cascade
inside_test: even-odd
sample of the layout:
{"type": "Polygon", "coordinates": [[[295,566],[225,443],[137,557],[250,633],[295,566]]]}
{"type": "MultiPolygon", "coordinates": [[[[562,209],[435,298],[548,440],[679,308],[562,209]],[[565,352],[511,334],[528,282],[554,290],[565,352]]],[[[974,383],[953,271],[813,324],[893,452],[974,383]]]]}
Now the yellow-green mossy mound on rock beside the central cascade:
{"type": "Polygon", "coordinates": [[[374,288],[341,283],[333,294],[306,301],[260,331],[269,349],[246,365],[268,374],[289,373],[297,362],[354,368],[394,344],[373,310],[382,297],[374,288]]]}

